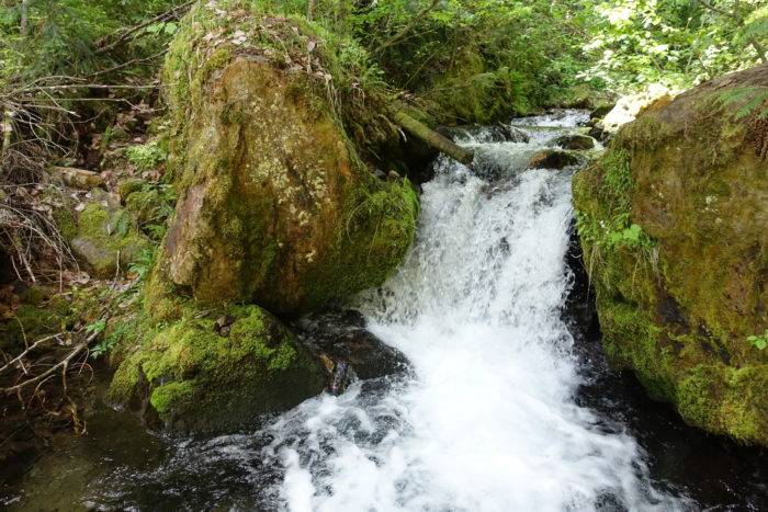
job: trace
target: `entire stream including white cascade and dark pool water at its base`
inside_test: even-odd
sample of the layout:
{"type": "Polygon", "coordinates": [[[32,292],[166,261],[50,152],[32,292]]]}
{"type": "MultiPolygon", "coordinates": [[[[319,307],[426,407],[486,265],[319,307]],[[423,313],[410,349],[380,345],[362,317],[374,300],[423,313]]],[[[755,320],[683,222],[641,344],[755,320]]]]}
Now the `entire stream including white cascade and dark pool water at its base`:
{"type": "Polygon", "coordinates": [[[354,304],[408,372],[246,432],[172,439],[100,409],[0,487],[15,510],[767,510],[766,453],[708,436],[611,372],[575,260],[571,179],[527,170],[578,111],[454,135],[406,262],[354,304]],[[507,137],[508,139],[509,137],[507,137]]]}

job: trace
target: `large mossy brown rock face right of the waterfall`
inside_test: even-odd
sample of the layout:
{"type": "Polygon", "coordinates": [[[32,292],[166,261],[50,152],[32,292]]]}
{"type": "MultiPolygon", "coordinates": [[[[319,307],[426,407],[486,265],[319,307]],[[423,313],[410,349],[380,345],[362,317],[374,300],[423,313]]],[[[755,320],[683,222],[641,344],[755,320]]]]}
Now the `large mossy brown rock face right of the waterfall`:
{"type": "Polygon", "coordinates": [[[763,445],[768,125],[749,102],[767,84],[764,65],[652,107],[574,181],[611,361],[688,423],[763,445]]]}

